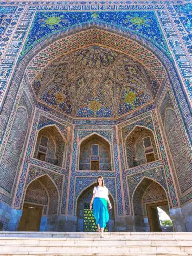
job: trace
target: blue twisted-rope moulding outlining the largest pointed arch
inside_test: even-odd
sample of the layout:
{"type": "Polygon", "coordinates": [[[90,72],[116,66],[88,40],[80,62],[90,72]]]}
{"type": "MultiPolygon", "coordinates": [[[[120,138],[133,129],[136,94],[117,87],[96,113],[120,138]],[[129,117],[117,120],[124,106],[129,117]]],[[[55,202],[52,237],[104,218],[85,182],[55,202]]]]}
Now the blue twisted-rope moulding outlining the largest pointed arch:
{"type": "MultiPolygon", "coordinates": [[[[166,54],[161,49],[159,49],[157,46],[155,46],[151,41],[147,40],[146,38],[144,38],[138,34],[135,34],[131,31],[124,31],[123,29],[117,30],[117,28],[115,26],[111,26],[109,24],[104,24],[104,23],[101,25],[101,24],[97,24],[96,22],[85,24],[82,26],[77,26],[73,29],[71,28],[71,29],[68,29],[67,31],[60,31],[54,35],[50,35],[48,38],[42,40],[37,45],[35,45],[22,58],[20,58],[19,63],[15,69],[15,73],[13,75],[12,81],[11,81],[11,87],[9,88],[7,97],[5,97],[6,101],[3,104],[2,118],[5,121],[1,122],[1,130],[3,131],[2,135],[4,135],[5,128],[7,126],[6,120],[9,119],[7,117],[7,112],[11,113],[10,110],[12,108],[12,105],[10,104],[10,102],[12,102],[12,101],[10,101],[10,97],[14,98],[16,96],[20,81],[22,80],[22,78],[24,76],[24,67],[27,67],[30,61],[32,61],[34,63],[34,60],[32,60],[32,59],[34,59],[35,55],[38,55],[37,53],[40,53],[40,51],[45,52],[46,46],[51,46],[51,44],[53,44],[53,42],[58,41],[61,38],[67,37],[69,34],[71,34],[71,32],[74,33],[74,29],[75,29],[76,33],[81,31],[82,35],[88,30],[99,29],[100,31],[104,30],[104,31],[106,31],[106,33],[111,33],[111,34],[115,34],[116,36],[120,36],[126,42],[127,42],[127,40],[132,40],[132,42],[133,43],[135,42],[135,44],[137,44],[139,47],[142,47],[146,51],[150,51],[151,54],[157,59],[158,63],[160,63],[160,61],[161,61],[162,65],[164,66],[163,69],[166,70],[169,80],[173,81],[172,86],[173,86],[174,93],[176,95],[179,105],[183,105],[183,104],[187,103],[186,108],[182,108],[182,109],[180,109],[180,111],[182,112],[183,116],[188,115],[188,117],[189,117],[188,119],[185,120],[185,122],[186,122],[186,126],[188,129],[188,134],[191,136],[191,133],[189,131],[190,123],[191,123],[191,112],[190,112],[190,103],[187,98],[188,95],[186,95],[185,91],[183,90],[183,88],[181,86],[181,81],[177,75],[177,71],[174,67],[172,60],[170,60],[170,58],[168,56],[166,56],[166,54]],[[127,38],[129,38],[129,39],[127,39],[127,38]],[[186,95],[187,101],[184,97],[182,97],[183,94],[186,95]]],[[[89,37],[88,39],[89,39],[89,44],[95,43],[93,41],[93,38],[89,37]]],[[[74,47],[75,44],[72,43],[71,45],[74,47]]],[[[117,45],[118,44],[116,44],[116,41],[113,41],[112,48],[114,49],[115,47],[117,47],[117,45]]]]}

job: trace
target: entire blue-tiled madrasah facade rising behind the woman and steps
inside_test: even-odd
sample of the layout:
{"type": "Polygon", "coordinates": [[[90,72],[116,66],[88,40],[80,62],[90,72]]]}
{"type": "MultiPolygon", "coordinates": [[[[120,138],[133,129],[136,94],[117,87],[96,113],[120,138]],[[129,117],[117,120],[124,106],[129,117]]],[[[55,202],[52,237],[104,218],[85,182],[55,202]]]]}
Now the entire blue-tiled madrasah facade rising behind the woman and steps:
{"type": "Polygon", "coordinates": [[[0,227],[192,231],[189,1],[1,1],[0,227]]]}

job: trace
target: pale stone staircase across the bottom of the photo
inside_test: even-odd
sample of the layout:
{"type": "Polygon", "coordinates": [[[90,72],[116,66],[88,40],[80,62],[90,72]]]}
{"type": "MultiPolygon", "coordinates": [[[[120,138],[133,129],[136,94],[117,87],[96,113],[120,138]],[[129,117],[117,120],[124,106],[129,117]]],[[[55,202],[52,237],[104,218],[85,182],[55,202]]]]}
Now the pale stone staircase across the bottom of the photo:
{"type": "Polygon", "coordinates": [[[192,233],[0,232],[0,255],[192,255],[192,233]]]}

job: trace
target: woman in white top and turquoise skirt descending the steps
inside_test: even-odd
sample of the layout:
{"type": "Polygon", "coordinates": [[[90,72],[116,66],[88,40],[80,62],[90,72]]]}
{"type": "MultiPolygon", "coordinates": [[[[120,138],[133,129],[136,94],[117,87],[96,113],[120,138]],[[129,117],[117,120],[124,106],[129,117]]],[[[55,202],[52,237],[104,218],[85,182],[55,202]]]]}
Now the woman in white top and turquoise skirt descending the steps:
{"type": "Polygon", "coordinates": [[[104,179],[102,176],[99,176],[97,179],[97,186],[93,189],[90,210],[92,210],[93,204],[93,215],[96,219],[97,231],[101,231],[101,238],[103,238],[106,223],[109,221],[108,203],[109,209],[111,210],[112,208],[108,195],[109,193],[104,185],[104,179]]]}

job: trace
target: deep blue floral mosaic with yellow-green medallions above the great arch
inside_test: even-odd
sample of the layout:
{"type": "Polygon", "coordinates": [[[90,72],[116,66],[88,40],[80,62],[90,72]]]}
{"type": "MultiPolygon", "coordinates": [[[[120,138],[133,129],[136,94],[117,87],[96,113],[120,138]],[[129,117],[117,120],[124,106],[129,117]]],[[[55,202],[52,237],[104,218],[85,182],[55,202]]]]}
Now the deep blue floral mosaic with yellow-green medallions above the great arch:
{"type": "Polygon", "coordinates": [[[138,33],[170,55],[154,12],[37,12],[22,54],[43,38],[60,30],[96,20],[138,33]]]}

